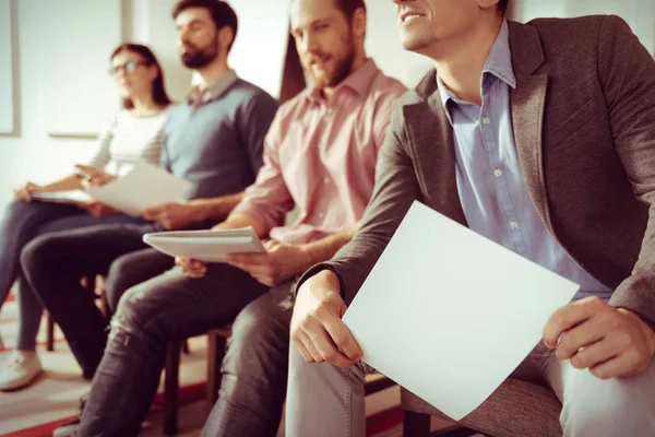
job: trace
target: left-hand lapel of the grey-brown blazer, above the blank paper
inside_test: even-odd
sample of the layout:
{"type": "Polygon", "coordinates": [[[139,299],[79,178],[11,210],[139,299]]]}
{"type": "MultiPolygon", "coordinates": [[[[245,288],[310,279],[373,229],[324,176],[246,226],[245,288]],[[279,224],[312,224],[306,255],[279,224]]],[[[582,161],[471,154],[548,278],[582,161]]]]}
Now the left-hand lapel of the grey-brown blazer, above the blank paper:
{"type": "Polygon", "coordinates": [[[466,226],[457,192],[452,129],[437,90],[434,71],[419,84],[417,92],[425,99],[404,106],[403,113],[426,203],[466,226]]]}

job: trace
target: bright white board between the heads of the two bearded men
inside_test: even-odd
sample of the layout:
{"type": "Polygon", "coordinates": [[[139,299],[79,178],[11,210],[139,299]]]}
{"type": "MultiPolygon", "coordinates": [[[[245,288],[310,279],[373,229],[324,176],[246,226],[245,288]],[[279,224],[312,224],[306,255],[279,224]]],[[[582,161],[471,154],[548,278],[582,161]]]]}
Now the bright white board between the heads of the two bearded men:
{"type": "Polygon", "coordinates": [[[237,74],[279,97],[289,35],[290,0],[229,0],[239,19],[229,63],[237,74]]]}

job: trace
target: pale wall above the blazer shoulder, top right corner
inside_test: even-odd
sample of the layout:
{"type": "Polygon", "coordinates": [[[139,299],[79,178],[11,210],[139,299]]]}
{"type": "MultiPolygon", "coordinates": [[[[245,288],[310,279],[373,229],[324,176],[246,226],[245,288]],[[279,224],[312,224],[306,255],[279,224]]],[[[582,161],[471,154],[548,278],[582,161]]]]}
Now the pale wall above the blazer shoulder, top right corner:
{"type": "Polygon", "coordinates": [[[510,0],[515,1],[514,17],[526,22],[540,16],[573,17],[614,14],[630,24],[642,44],[655,54],[654,0],[510,0]]]}

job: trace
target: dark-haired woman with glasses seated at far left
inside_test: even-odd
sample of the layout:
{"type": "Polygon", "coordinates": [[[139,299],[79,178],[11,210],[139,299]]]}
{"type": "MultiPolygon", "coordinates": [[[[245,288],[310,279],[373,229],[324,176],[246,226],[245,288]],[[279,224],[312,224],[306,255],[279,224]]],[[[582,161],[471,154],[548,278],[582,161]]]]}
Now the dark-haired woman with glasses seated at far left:
{"type": "MultiPolygon", "coordinates": [[[[14,190],[15,199],[0,220],[0,306],[17,280],[20,307],[15,350],[0,367],[0,390],[3,391],[25,387],[43,371],[35,352],[43,309],[23,279],[23,247],[45,233],[141,221],[96,201],[53,203],[37,200],[43,193],[81,189],[86,184],[106,184],[123,176],[136,163],[158,165],[162,128],[170,107],[162,68],[153,52],[138,44],[121,44],[111,54],[110,62],[109,73],[118,85],[123,107],[102,131],[93,158],[76,165],[62,179],[48,185],[27,182],[14,190]]],[[[2,347],[0,339],[0,351],[2,347]]]]}

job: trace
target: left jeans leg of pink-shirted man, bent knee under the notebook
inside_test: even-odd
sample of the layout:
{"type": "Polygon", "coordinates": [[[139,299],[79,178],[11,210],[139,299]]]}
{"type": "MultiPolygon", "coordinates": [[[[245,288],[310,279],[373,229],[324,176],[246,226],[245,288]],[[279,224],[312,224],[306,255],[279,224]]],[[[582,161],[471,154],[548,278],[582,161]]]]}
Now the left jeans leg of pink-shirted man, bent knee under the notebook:
{"type": "Polygon", "coordinates": [[[211,264],[202,279],[176,268],[130,288],[111,321],[79,435],[135,436],[155,397],[168,342],[233,322],[267,290],[227,264],[211,264]]]}

